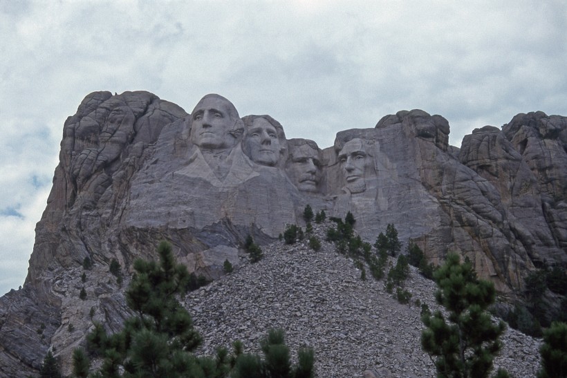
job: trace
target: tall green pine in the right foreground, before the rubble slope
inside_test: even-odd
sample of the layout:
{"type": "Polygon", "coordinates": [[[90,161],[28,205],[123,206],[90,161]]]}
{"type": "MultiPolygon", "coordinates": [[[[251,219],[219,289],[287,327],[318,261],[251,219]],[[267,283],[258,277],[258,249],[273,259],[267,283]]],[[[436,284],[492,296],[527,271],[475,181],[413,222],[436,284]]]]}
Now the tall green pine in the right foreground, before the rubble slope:
{"type": "MultiPolygon", "coordinates": [[[[436,301],[449,316],[445,320],[440,311],[422,316],[427,327],[422,332],[422,348],[436,357],[438,377],[487,377],[501,349],[499,337],[505,328],[502,321],[493,324],[486,312],[494,303],[494,284],[479,280],[472,263],[461,264],[457,254],[447,255],[434,278],[438,285],[436,301]]],[[[504,371],[498,374],[506,375],[504,371]]]]}

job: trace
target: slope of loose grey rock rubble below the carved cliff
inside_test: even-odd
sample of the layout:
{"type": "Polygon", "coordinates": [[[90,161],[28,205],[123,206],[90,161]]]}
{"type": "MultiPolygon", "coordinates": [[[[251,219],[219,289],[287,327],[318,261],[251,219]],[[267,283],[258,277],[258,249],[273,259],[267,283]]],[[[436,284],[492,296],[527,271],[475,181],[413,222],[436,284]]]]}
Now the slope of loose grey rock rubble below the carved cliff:
{"type": "MultiPolygon", "coordinates": [[[[236,339],[246,351],[259,352],[267,330],[281,328],[292,355],[301,346],[315,349],[318,377],[362,377],[364,370],[377,377],[433,377],[434,364],[420,347],[423,325],[415,300],[435,309],[435,283],[411,267],[405,283],[411,303],[398,303],[384,281],[370,274],[362,281],[353,260],[324,241],[329,226],[314,227],[322,240],[319,252],[306,240],[277,242],[263,247],[259,263],[243,261],[236,272],[189,293],[185,305],[204,339],[199,353],[213,355],[236,339]]],[[[540,342],[511,329],[503,341],[495,366],[513,376],[535,376],[540,342]]]]}

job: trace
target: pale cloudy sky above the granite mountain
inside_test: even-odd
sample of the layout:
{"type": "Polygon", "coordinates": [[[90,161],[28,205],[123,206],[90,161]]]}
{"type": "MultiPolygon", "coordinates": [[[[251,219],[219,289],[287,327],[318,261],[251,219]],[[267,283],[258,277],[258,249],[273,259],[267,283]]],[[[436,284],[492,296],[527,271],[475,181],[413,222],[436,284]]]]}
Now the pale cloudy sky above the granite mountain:
{"type": "Polygon", "coordinates": [[[421,108],[459,147],[517,113],[567,115],[566,4],[0,0],[0,294],[24,283],[85,95],[145,90],[191,111],[219,93],[322,148],[421,108]]]}

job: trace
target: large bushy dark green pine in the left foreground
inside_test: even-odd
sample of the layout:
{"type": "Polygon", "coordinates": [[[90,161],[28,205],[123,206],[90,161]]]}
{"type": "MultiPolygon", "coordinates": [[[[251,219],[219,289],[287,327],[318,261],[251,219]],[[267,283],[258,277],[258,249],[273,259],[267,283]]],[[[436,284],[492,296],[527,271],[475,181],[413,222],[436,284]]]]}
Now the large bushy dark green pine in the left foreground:
{"type": "Polygon", "coordinates": [[[160,243],[158,255],[159,263],[134,262],[136,274],[126,291],[126,301],[136,315],[124,322],[124,329],[109,335],[95,323],[86,337],[89,350],[103,359],[99,375],[199,376],[212,365],[189,353],[201,343],[201,337],[176,299],[188,285],[187,268],[176,263],[169,243],[160,243]]]}

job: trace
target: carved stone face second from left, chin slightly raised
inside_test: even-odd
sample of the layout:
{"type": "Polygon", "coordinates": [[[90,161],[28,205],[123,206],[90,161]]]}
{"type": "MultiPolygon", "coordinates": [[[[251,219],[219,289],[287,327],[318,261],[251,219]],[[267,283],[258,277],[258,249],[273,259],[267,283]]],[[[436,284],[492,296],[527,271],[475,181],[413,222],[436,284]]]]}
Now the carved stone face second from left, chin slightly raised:
{"type": "Polygon", "coordinates": [[[264,118],[256,118],[244,139],[250,159],[273,167],[279,160],[280,144],[275,126],[264,118]]]}

